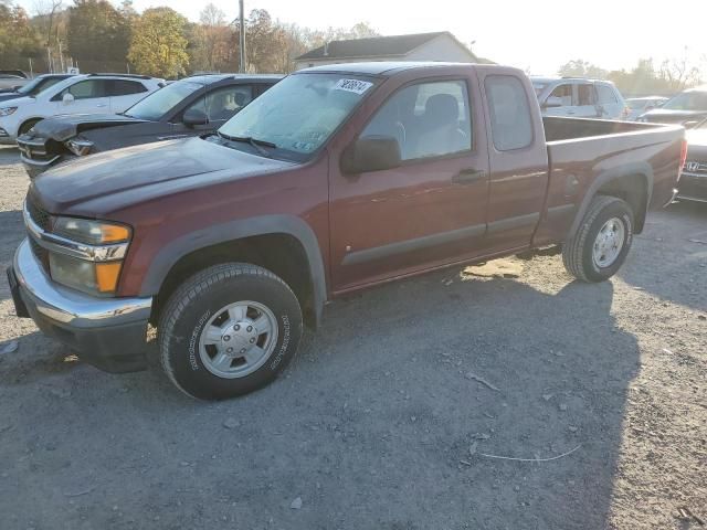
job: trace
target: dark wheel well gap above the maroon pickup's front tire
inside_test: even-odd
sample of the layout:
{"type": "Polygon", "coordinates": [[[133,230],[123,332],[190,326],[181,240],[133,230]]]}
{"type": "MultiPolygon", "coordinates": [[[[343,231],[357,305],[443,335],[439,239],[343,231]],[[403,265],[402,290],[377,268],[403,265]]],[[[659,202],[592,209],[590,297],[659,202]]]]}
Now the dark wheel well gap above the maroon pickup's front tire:
{"type": "Polygon", "coordinates": [[[150,321],[159,321],[170,295],[187,278],[212,265],[229,262],[258,265],[279,276],[299,300],[305,324],[313,328],[317,326],[319,308],[307,252],[299,240],[283,232],[225,241],[182,255],[171,266],[154,298],[150,321]]]}

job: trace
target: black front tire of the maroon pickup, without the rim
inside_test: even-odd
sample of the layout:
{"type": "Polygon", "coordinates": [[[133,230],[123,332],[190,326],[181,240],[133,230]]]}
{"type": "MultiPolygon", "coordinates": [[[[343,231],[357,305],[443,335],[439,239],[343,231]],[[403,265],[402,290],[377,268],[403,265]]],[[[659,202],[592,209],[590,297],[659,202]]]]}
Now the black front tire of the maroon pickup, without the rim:
{"type": "Polygon", "coordinates": [[[287,284],[265,268],[243,263],[214,265],[186,280],[170,296],[158,324],[165,372],[182,392],[201,400],[234,398],[271,383],[295,356],[302,332],[302,309],[287,284]],[[217,311],[241,300],[262,304],[272,311],[277,339],[257,370],[225,379],[204,365],[199,341],[217,311]]]}

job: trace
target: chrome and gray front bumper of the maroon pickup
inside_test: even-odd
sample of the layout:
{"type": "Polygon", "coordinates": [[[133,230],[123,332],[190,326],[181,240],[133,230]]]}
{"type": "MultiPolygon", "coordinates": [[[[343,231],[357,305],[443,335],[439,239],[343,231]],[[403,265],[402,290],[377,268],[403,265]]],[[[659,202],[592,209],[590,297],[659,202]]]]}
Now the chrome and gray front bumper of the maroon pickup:
{"type": "Polygon", "coordinates": [[[146,367],[151,298],[97,298],[52,282],[23,241],[8,269],[15,310],[89,364],[108,372],[146,367]]]}

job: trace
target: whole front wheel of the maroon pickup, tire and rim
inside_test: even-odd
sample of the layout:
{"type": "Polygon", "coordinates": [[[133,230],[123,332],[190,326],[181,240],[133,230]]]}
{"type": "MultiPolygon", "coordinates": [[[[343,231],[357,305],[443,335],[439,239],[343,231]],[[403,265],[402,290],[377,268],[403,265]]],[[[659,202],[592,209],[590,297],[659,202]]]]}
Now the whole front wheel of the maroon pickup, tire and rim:
{"type": "Polygon", "coordinates": [[[296,353],[302,331],[299,303],[287,284],[242,263],[215,265],[184,282],[158,326],[165,372],[202,400],[268,384],[296,353]]]}

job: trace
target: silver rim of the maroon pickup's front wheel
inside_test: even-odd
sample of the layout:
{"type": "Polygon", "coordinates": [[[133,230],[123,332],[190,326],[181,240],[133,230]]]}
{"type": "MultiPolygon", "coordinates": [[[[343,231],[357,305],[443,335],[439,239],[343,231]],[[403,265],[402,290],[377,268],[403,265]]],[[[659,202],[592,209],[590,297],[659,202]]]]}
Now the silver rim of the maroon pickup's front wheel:
{"type": "Polygon", "coordinates": [[[214,375],[236,379],[260,369],[277,343],[277,319],[257,301],[236,301],[214,312],[199,339],[199,357],[214,375]]]}

